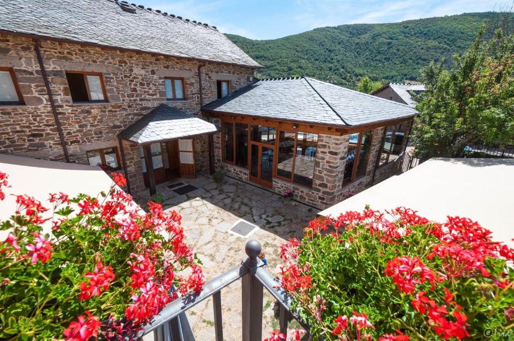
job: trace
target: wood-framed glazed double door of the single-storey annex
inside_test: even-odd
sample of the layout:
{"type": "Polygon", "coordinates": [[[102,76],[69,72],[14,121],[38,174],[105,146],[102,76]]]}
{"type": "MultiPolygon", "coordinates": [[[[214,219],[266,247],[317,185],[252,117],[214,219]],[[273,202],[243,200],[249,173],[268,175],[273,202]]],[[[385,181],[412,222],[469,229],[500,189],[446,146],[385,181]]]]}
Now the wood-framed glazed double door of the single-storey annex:
{"type": "Polygon", "coordinates": [[[250,142],[250,181],[273,187],[274,146],[250,142]]]}

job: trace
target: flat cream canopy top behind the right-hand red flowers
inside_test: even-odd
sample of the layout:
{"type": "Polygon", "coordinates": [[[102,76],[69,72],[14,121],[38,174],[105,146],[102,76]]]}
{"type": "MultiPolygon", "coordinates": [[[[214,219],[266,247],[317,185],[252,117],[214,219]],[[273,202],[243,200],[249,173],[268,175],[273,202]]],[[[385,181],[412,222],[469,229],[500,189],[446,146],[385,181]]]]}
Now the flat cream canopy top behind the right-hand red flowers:
{"type": "Polygon", "coordinates": [[[392,210],[405,206],[432,221],[478,221],[495,241],[514,247],[514,159],[430,159],[319,213],[392,210]]]}

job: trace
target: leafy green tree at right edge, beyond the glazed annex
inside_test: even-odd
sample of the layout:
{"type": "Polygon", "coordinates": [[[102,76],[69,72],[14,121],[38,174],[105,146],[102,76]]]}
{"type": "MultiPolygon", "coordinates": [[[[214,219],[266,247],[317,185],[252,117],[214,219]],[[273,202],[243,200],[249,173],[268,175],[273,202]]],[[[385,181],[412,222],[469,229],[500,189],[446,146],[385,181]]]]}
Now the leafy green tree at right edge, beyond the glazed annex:
{"type": "Polygon", "coordinates": [[[426,91],[417,96],[419,116],[411,141],[421,158],[457,157],[472,144],[514,144],[514,34],[497,30],[489,41],[482,27],[450,70],[443,61],[421,70],[426,91]]]}

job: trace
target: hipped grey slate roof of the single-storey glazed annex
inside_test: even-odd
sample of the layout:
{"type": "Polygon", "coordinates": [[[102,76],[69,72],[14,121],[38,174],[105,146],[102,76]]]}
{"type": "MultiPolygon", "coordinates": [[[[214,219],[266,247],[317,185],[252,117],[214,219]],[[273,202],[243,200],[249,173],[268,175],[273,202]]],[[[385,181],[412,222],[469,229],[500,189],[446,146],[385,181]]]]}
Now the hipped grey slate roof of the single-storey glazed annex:
{"type": "Polygon", "coordinates": [[[204,109],[332,126],[417,115],[408,105],[307,77],[262,80],[209,103],[204,109]]]}

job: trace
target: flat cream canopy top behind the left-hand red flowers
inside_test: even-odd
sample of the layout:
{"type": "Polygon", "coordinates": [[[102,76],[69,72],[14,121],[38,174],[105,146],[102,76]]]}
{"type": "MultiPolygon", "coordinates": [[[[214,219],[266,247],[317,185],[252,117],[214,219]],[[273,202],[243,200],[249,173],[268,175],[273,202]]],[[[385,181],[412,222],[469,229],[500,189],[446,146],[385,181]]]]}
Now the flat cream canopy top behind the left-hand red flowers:
{"type": "MultiPolygon", "coordinates": [[[[63,192],[70,197],[80,193],[96,196],[101,191],[107,192],[113,180],[98,166],[77,163],[30,159],[13,155],[0,154],[0,172],[9,175],[10,188],[3,191],[4,201],[0,201],[0,220],[6,220],[16,210],[15,197],[11,194],[27,194],[43,203],[51,210],[46,200],[50,193],[63,192]]],[[[51,211],[47,211],[51,216],[51,211]]],[[[46,217],[45,213],[45,217],[46,217]]],[[[44,225],[44,232],[49,233],[44,225]]],[[[0,237],[5,238],[6,231],[0,231],[0,237]]],[[[3,240],[3,239],[2,239],[3,240]]]]}

